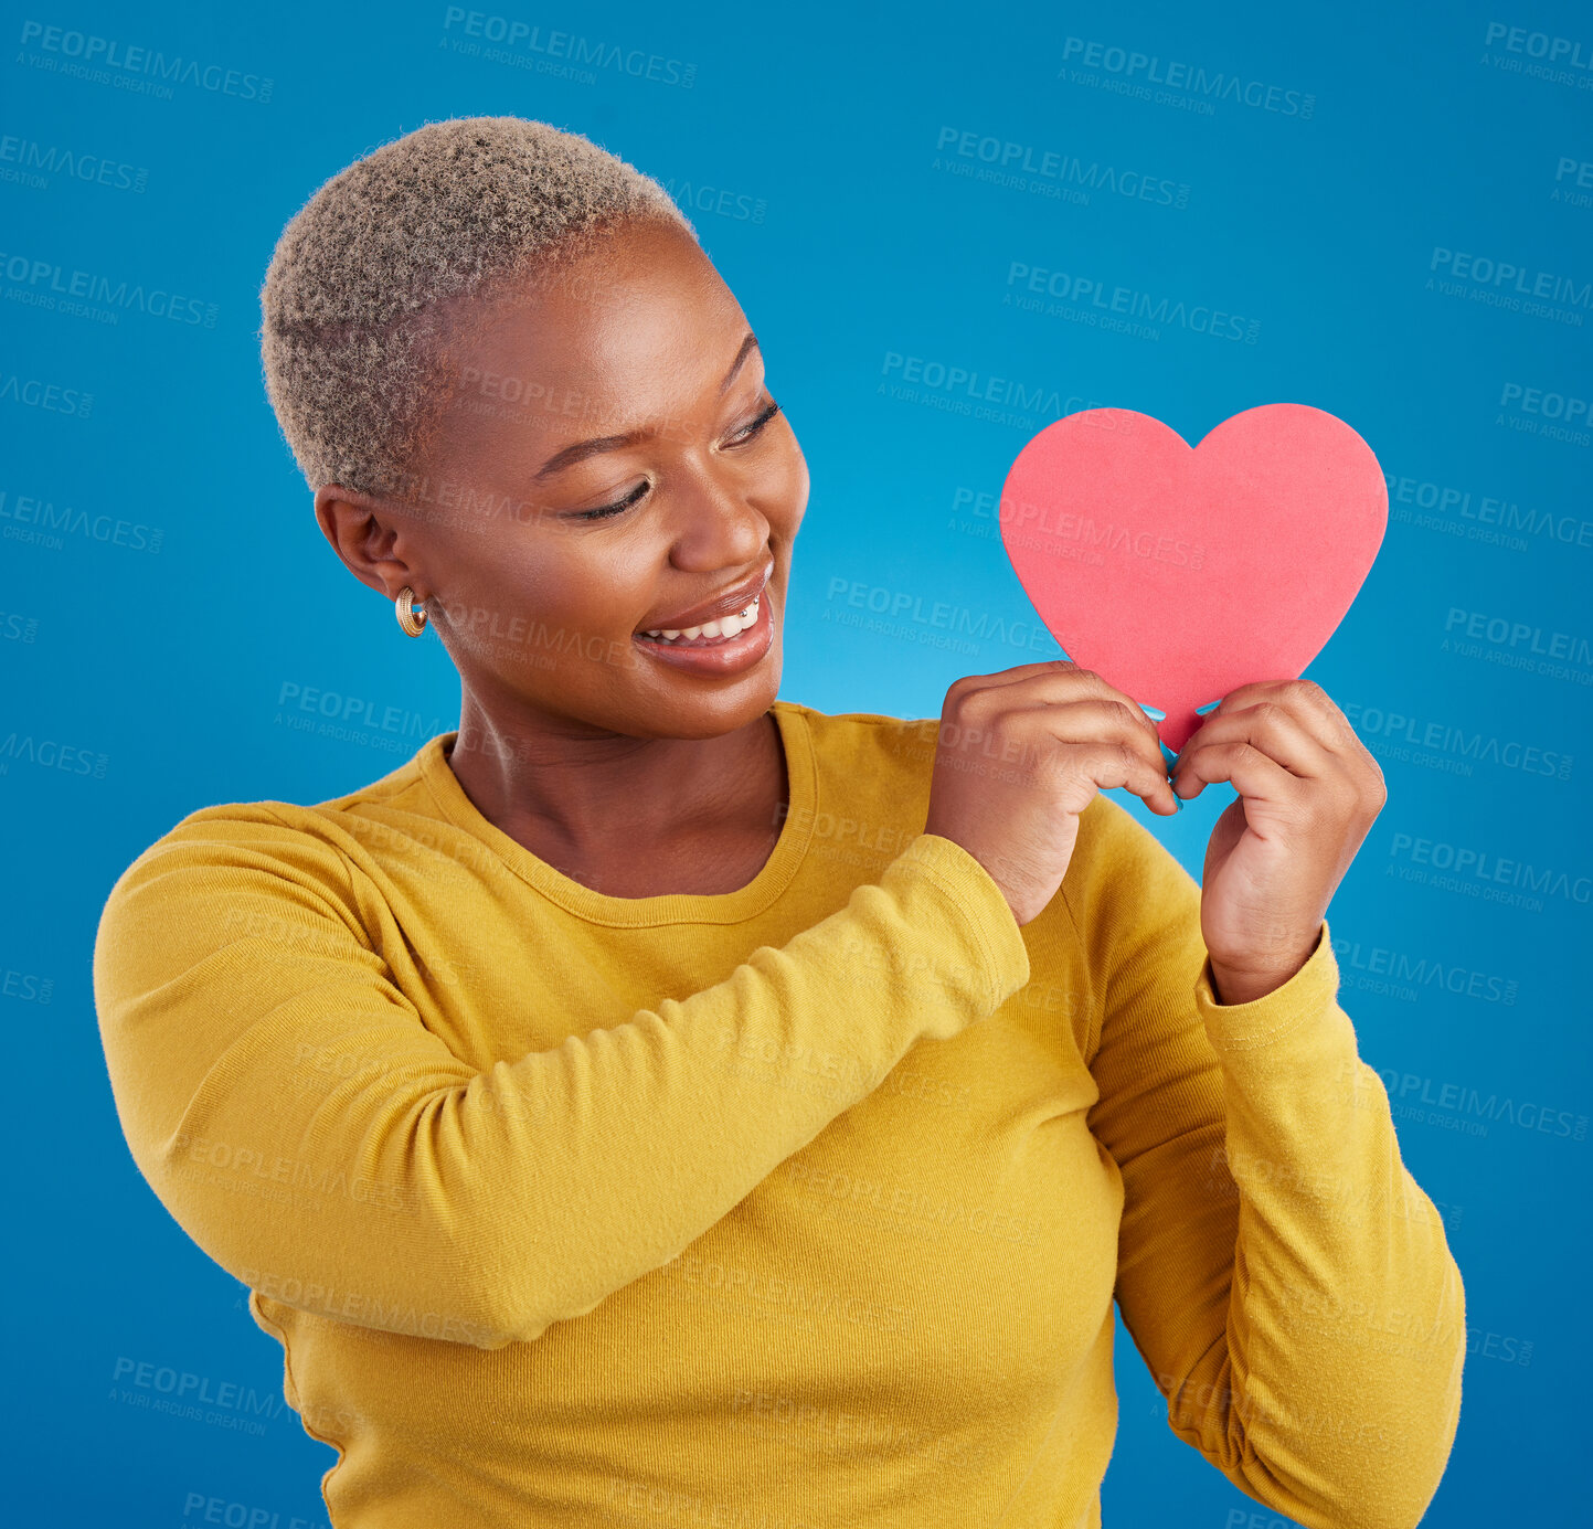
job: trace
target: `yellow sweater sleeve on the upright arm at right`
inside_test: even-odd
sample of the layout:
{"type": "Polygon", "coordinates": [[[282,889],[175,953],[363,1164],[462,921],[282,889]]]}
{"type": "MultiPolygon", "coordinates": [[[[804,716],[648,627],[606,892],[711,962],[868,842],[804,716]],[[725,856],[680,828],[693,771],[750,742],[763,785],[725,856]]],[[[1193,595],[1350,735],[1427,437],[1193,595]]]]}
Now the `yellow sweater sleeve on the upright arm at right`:
{"type": "Polygon", "coordinates": [[[1383,1083],[1306,964],[1217,1000],[1200,887],[1104,800],[1069,911],[1099,1007],[1090,1126],[1123,1175],[1117,1300],[1172,1432],[1306,1529],[1410,1529],[1454,1441],[1461,1276],[1383,1083]]]}

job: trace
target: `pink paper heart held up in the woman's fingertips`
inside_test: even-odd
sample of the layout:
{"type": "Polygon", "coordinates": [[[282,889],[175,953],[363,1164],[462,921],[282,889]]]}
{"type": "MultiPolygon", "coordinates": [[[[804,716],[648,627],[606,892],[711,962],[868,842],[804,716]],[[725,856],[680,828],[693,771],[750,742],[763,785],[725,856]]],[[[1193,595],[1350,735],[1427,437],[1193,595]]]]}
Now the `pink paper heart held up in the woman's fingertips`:
{"type": "Polygon", "coordinates": [[[1341,419],[1266,403],[1196,448],[1160,419],[1085,409],[1047,425],[1002,487],[1002,543],[1085,669],[1166,712],[1298,678],[1344,620],[1388,529],[1372,448],[1341,419]]]}

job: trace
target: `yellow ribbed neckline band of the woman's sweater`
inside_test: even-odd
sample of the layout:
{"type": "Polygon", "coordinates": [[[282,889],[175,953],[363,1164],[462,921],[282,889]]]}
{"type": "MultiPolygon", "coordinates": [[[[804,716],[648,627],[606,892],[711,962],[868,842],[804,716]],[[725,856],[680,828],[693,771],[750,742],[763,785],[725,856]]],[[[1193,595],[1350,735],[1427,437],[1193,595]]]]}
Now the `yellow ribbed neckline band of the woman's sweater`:
{"type": "Polygon", "coordinates": [[[769,712],[785,750],[789,804],[769,858],[744,887],[734,892],[666,892],[660,897],[610,897],[583,886],[481,814],[448,764],[457,728],[430,739],[419,753],[421,777],[443,815],[479,839],[521,881],[589,924],[615,929],[648,929],[660,924],[739,924],[769,906],[790,886],[808,854],[819,796],[812,734],[803,707],[776,701],[769,712]]]}

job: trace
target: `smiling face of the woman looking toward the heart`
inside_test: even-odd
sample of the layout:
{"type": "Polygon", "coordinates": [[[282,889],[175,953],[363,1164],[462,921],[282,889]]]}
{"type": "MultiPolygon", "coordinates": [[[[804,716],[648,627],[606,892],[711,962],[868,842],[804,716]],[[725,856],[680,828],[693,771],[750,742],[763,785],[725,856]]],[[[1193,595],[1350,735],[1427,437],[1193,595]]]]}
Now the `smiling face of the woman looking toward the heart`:
{"type": "Polygon", "coordinates": [[[755,721],[779,691],[808,465],[707,256],[628,225],[462,319],[425,491],[386,518],[374,581],[414,586],[503,731],[710,737],[755,721]],[[739,610],[742,589],[758,610],[730,640],[644,635],[720,597],[739,610]]]}

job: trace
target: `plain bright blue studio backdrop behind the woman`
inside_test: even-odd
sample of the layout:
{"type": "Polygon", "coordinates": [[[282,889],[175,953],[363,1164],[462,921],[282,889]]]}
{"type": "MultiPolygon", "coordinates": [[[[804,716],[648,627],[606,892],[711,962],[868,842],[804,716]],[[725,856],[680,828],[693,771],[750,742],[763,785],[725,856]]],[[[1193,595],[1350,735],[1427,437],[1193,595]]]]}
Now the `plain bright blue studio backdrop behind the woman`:
{"type": "MultiPolygon", "coordinates": [[[[847,629],[830,591],[862,581],[924,608],[1027,620],[996,522],[972,518],[967,495],[999,492],[1058,413],[1133,408],[1198,441],[1241,409],[1292,400],[1372,444],[1395,484],[1388,537],[1308,677],[1386,771],[1389,803],[1330,909],[1341,1002],[1391,1086],[1405,1159],[1443,1212],[1474,1328],[1459,1437],[1426,1523],[1585,1513],[1572,1461],[1590,1362],[1593,444],[1585,413],[1580,430],[1561,420],[1545,433],[1545,398],[1580,398],[1585,411],[1593,393],[1593,194],[1587,178],[1577,188],[1593,174],[1593,18],[1532,0],[1204,10],[484,8],[656,54],[675,65],[666,75],[680,83],[667,83],[487,61],[460,51],[467,29],[443,5],[8,6],[0,1016],[16,1085],[5,1427],[21,1462],[8,1492],[18,1523],[169,1526],[185,1521],[190,1494],[268,1508],[284,1529],[293,1515],[325,1519],[319,1480],[333,1454],[284,1406],[249,1433],[118,1400],[118,1362],[131,1359],[280,1403],[282,1359],[244,1311],[245,1290],[188,1241],[127,1155],[89,954],[116,874],[183,814],[341,795],[419,744],[293,729],[279,720],[284,686],[400,707],[422,736],[457,723],[441,647],[405,639],[314,524],[260,379],[256,293],[284,223],[327,177],[427,119],[492,113],[585,132],[669,185],[757,328],[812,471],[782,694],[820,710],[937,715],[959,674],[1045,656],[997,642],[948,651],[914,640],[911,623],[847,629]],[[84,76],[76,45],[45,46],[30,21],[237,70],[237,94],[202,83],[140,94],[116,70],[84,76]],[[1496,21],[1523,29],[1513,51],[1507,37],[1489,41],[1496,21]],[[1542,45],[1529,33],[1579,43],[1580,64],[1566,78],[1534,73],[1542,45]],[[1252,97],[1278,86],[1297,110],[1233,99],[1187,110],[1157,100],[1155,86],[1150,99],[1126,94],[1117,54],[1102,54],[1117,73],[1075,78],[1066,70],[1083,72],[1086,43],[1258,81],[1252,97]],[[972,154],[954,150],[964,132],[972,154]],[[981,139],[1026,147],[1035,164],[1058,151],[1168,182],[1187,188],[1185,205],[981,180],[981,139]],[[110,166],[108,183],[64,169],[67,151],[110,166]],[[1558,317],[1489,303],[1486,282],[1446,293],[1429,287],[1429,276],[1456,280],[1432,271],[1435,250],[1582,290],[1558,317]],[[1139,338],[1023,312],[1002,301],[1013,261],[1257,327],[1249,342],[1179,325],[1139,338]],[[40,272],[57,269],[59,280],[83,269],[177,290],[199,322],[51,307],[57,277],[40,272]],[[962,409],[951,387],[906,395],[908,357],[930,374],[938,363],[1055,392],[1061,406],[1004,420],[962,409]],[[1536,413],[1520,408],[1528,389],[1536,413]],[[1446,505],[1423,506],[1445,489],[1446,505]],[[1520,505],[1526,524],[1489,527],[1486,499],[1520,505]],[[61,527],[49,535],[41,502],[61,527]],[[1563,672],[1501,661],[1531,639],[1446,650],[1454,610],[1540,629],[1542,643],[1571,634],[1580,661],[1563,672]],[[1419,741],[1431,723],[1556,763],[1539,772],[1454,745],[1423,750],[1411,726],[1419,741]],[[38,763],[45,742],[70,763],[38,763]],[[1477,895],[1480,882],[1402,879],[1413,855],[1400,835],[1564,871],[1571,890],[1509,906],[1477,895]],[[1489,981],[1481,995],[1391,983],[1373,948],[1489,981]],[[1434,1112],[1456,1096],[1494,1104],[1434,1112]],[[1537,1110],[1518,1116],[1521,1102],[1537,1110]],[[1539,1112],[1553,1129],[1523,1124],[1539,1112]]],[[[1195,874],[1231,800],[1207,790],[1169,823],[1117,796],[1195,874]]],[[[1121,1330],[1118,1376],[1112,1529],[1282,1524],[1168,1432],[1121,1330]]]]}

